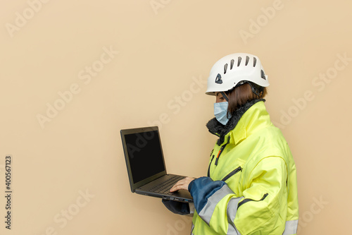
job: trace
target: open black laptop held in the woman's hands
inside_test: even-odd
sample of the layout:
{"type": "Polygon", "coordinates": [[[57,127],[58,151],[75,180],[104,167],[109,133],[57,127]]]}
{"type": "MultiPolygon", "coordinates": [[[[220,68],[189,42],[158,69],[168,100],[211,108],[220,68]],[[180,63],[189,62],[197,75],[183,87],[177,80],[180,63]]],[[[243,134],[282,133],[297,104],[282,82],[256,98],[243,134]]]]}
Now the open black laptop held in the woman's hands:
{"type": "Polygon", "coordinates": [[[120,131],[132,193],[167,200],[193,202],[189,191],[170,193],[185,176],[167,174],[158,126],[120,131]]]}

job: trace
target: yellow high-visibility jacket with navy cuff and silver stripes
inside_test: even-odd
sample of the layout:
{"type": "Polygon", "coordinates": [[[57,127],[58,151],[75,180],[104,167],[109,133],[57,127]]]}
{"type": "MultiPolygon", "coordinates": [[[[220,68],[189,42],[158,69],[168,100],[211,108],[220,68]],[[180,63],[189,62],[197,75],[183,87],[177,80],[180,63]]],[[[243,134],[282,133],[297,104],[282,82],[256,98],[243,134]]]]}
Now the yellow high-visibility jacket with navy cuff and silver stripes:
{"type": "Polygon", "coordinates": [[[294,159],[263,101],[253,104],[210,155],[208,177],[189,183],[191,234],[296,234],[294,159]]]}

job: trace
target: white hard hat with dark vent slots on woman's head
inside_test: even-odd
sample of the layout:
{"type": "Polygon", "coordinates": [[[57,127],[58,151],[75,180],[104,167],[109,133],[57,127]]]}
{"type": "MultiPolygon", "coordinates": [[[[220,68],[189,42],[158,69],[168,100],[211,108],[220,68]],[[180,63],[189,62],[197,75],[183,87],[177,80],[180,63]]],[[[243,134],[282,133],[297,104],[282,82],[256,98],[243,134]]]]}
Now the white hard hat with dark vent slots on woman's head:
{"type": "Polygon", "coordinates": [[[207,95],[231,90],[244,82],[251,82],[260,87],[268,87],[268,76],[257,56],[246,53],[229,54],[218,60],[210,70],[207,95]]]}

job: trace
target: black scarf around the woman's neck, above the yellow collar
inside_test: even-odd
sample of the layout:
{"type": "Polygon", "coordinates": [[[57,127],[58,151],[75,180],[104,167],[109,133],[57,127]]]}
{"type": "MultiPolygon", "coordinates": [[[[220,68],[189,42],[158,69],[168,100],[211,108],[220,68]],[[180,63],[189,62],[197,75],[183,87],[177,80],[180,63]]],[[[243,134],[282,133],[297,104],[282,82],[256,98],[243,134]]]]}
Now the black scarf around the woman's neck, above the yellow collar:
{"type": "Polygon", "coordinates": [[[231,114],[231,118],[225,126],[222,125],[222,123],[220,123],[216,118],[210,119],[210,121],[206,123],[206,127],[208,128],[209,132],[220,137],[218,139],[218,145],[224,143],[225,135],[236,127],[237,123],[239,122],[239,119],[241,119],[241,116],[243,116],[243,114],[250,107],[252,107],[253,104],[256,104],[260,101],[265,102],[264,99],[251,100],[250,102],[246,102],[246,104],[236,109],[236,111],[231,114]]]}

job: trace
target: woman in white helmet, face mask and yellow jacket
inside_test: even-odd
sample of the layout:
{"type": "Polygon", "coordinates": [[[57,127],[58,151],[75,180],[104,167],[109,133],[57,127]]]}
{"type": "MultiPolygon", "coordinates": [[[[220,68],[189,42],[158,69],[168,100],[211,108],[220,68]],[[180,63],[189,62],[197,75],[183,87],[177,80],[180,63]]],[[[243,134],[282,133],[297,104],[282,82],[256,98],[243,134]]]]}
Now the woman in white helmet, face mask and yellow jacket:
{"type": "MultiPolygon", "coordinates": [[[[170,190],[188,190],[194,198],[191,234],[296,234],[296,167],[265,109],[268,85],[251,54],[230,54],[211,69],[206,94],[216,97],[215,118],[206,126],[219,139],[208,176],[187,177],[170,190]]],[[[193,207],[163,203],[182,215],[193,207]]]]}

